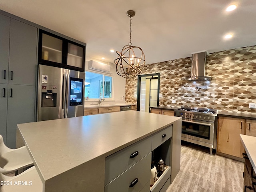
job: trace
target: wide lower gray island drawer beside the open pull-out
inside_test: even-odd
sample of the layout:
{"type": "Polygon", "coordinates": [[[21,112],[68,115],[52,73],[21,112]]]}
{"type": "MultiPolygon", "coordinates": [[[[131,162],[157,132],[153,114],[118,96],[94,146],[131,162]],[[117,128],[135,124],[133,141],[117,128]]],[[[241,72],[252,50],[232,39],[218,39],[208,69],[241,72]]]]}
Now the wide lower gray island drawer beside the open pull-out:
{"type": "MultiPolygon", "coordinates": [[[[105,186],[105,192],[140,192],[150,182],[151,152],[105,186]],[[136,182],[137,181],[137,182],[136,182]],[[134,183],[134,185],[132,185],[134,183]]],[[[148,188],[149,191],[149,188],[148,188]]]]}

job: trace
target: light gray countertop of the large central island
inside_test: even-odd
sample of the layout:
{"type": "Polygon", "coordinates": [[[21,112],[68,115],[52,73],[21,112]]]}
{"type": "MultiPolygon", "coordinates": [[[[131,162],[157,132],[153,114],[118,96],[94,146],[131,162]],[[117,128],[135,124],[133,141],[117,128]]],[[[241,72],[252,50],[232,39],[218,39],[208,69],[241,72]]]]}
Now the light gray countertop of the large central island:
{"type": "Polygon", "coordinates": [[[43,184],[49,180],[49,185],[56,185],[60,180],[56,176],[72,175],[74,172],[68,170],[81,168],[87,162],[90,167],[95,162],[95,168],[104,169],[106,156],[176,121],[181,122],[181,118],[130,110],[18,124],[18,130],[43,184]]]}

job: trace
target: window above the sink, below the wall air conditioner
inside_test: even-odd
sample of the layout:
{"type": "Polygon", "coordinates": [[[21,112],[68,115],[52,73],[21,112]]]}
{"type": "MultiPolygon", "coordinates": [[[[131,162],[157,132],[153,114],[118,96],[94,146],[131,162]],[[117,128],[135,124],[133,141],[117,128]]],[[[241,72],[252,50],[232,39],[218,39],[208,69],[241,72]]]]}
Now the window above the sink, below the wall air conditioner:
{"type": "Polygon", "coordinates": [[[85,72],[85,97],[90,99],[112,98],[112,77],[104,74],[85,72]]]}

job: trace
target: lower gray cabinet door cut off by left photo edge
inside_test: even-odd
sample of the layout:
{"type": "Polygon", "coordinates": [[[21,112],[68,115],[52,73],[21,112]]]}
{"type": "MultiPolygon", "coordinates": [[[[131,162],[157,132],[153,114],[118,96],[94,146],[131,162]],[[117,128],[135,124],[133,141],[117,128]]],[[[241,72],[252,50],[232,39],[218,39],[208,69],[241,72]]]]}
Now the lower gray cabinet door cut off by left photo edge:
{"type": "Polygon", "coordinates": [[[7,84],[0,84],[0,134],[6,144],[7,84]]]}

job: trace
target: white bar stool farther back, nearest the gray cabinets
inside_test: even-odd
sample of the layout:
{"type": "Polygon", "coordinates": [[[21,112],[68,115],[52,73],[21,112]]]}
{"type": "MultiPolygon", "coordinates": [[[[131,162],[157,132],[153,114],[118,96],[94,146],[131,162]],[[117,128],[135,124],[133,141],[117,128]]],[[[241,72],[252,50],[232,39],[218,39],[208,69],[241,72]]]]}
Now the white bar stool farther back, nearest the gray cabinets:
{"type": "Polygon", "coordinates": [[[32,166],[33,162],[26,146],[18,149],[10,149],[4,144],[2,135],[0,135],[0,172],[7,174],[32,166]]]}

